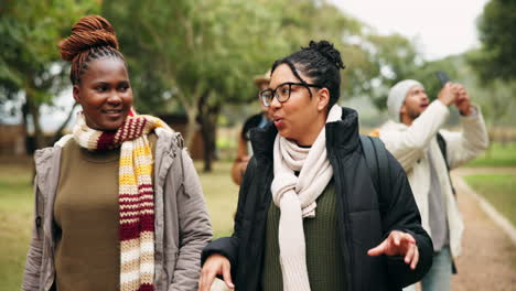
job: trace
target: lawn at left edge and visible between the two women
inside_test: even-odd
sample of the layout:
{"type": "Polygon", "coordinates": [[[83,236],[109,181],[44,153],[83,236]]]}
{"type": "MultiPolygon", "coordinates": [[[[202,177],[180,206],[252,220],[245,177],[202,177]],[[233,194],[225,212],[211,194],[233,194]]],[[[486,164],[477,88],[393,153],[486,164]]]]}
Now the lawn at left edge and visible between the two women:
{"type": "MultiPolygon", "coordinates": [[[[201,163],[195,163],[197,170],[201,163]]],[[[200,173],[215,237],[233,230],[238,186],[230,179],[232,163],[214,164],[200,173]]],[[[30,163],[0,163],[0,291],[20,290],[34,209],[30,163]]]]}

